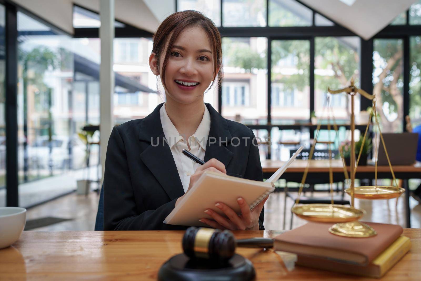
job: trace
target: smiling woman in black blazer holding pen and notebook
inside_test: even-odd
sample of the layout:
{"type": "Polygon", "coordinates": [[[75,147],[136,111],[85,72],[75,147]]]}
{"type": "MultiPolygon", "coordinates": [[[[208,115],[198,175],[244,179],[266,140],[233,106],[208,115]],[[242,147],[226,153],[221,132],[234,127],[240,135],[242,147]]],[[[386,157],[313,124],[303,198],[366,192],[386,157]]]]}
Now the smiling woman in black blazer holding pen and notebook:
{"type": "MultiPolygon", "coordinates": [[[[188,225],[163,221],[204,171],[263,181],[253,131],[204,103],[206,92],[222,75],[221,35],[213,22],[197,11],[173,13],[153,41],[149,66],[163,84],[166,102],[111,133],[104,174],[105,230],[186,229],[188,225]],[[232,144],[235,138],[240,141],[232,144]],[[205,164],[185,157],[184,149],[205,164]]],[[[214,206],[203,206],[203,217],[213,219],[200,222],[221,229],[264,229],[266,200],[250,211],[251,202],[240,195],[240,216],[224,204],[221,194],[214,206]],[[215,211],[218,208],[226,217],[215,211]]]]}

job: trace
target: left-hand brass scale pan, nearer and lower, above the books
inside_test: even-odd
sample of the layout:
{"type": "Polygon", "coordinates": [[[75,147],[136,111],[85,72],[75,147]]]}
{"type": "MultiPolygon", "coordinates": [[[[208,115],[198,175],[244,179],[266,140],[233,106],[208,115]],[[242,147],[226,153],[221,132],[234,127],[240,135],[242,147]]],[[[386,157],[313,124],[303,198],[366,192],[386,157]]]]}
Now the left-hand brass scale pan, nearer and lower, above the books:
{"type": "Polygon", "coordinates": [[[302,204],[291,211],[301,219],[311,222],[352,222],[365,214],[364,210],[332,204],[302,204]]]}

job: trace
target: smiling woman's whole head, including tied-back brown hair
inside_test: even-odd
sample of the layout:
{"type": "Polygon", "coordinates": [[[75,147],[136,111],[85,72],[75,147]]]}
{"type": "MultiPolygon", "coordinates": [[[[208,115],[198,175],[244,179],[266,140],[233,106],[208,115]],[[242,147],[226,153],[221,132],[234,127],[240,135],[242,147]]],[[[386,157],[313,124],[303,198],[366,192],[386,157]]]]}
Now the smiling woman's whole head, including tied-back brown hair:
{"type": "MultiPolygon", "coordinates": [[[[209,85],[212,87],[216,75],[221,75],[221,35],[212,21],[192,17],[196,14],[196,11],[183,11],[169,16],[165,21],[177,23],[176,27],[171,32],[164,28],[157,30],[149,58],[152,72],[161,76],[165,94],[181,103],[202,96],[209,85]],[[166,77],[167,73],[173,76],[166,77]],[[196,79],[192,80],[192,76],[196,79]],[[187,96],[182,92],[192,90],[187,96]]],[[[167,26],[165,21],[161,27],[167,26]]]]}

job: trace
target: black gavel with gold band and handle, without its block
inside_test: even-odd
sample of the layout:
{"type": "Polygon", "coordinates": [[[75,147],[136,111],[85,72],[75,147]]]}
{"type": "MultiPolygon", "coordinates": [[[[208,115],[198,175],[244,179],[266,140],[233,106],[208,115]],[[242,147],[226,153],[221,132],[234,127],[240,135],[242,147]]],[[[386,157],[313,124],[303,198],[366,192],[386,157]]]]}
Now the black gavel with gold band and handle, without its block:
{"type": "Polygon", "coordinates": [[[226,262],[234,256],[236,247],[272,248],[271,238],[236,240],[229,230],[189,227],[183,236],[183,251],[191,259],[226,262]]]}

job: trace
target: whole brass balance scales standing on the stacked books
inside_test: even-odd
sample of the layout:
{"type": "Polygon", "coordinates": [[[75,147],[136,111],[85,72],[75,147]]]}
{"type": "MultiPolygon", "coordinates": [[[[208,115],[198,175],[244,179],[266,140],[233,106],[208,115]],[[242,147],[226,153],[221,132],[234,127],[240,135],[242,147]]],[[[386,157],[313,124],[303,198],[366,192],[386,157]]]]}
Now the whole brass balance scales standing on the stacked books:
{"type": "MultiPolygon", "coordinates": [[[[330,108],[330,113],[328,114],[328,151],[329,151],[329,182],[330,182],[330,196],[331,196],[331,203],[330,204],[299,204],[300,195],[304,187],[304,183],[306,181],[307,173],[309,170],[309,166],[311,163],[312,155],[314,153],[314,147],[317,143],[317,137],[320,132],[320,125],[321,119],[318,121],[317,128],[316,128],[316,135],[314,136],[314,141],[312,147],[310,149],[309,158],[307,161],[306,169],[304,170],[303,177],[301,179],[300,188],[298,190],[298,197],[296,202],[294,203],[291,211],[296,214],[298,217],[302,219],[306,219],[312,222],[331,222],[335,223],[329,228],[329,232],[339,236],[346,236],[346,237],[370,237],[375,236],[376,230],[374,230],[369,225],[366,225],[358,220],[365,214],[365,211],[362,209],[356,209],[354,207],[354,198],[359,199],[392,199],[398,198],[402,193],[405,192],[405,189],[398,187],[396,178],[394,176],[394,172],[392,169],[392,164],[389,160],[389,155],[386,150],[386,145],[384,143],[383,135],[381,134],[380,125],[378,122],[378,116],[376,112],[376,97],[375,95],[370,95],[367,92],[357,88],[354,86],[354,79],[351,79],[350,85],[346,88],[339,89],[339,90],[331,90],[328,88],[328,92],[330,94],[340,94],[345,92],[351,96],[351,123],[350,123],[350,131],[351,131],[351,155],[350,155],[350,179],[348,176],[348,170],[346,168],[344,154],[341,148],[339,149],[339,155],[342,160],[342,166],[344,168],[344,175],[345,175],[345,182],[349,182],[349,188],[346,188],[345,192],[351,196],[351,206],[346,207],[343,205],[336,205],[333,201],[333,171],[332,171],[332,153],[330,145],[333,142],[330,142],[330,114],[332,115],[333,120],[333,128],[336,132],[336,137],[338,138],[338,126],[336,125],[335,118],[333,116],[333,110],[330,106],[330,94],[328,94],[326,99],[325,107],[323,108],[323,112],[326,107],[330,108]],[[358,154],[357,163],[355,163],[355,141],[354,141],[354,130],[355,130],[355,120],[354,120],[354,97],[356,94],[361,94],[363,97],[370,99],[373,101],[373,107],[370,112],[370,117],[368,119],[367,128],[365,128],[364,138],[362,140],[362,145],[360,152],[358,154]],[[375,124],[374,124],[374,131],[375,131],[375,141],[374,145],[376,146],[373,151],[375,152],[375,185],[371,186],[362,186],[362,187],[355,187],[355,172],[357,170],[358,162],[360,161],[362,148],[364,147],[365,139],[367,137],[368,128],[370,126],[370,121],[374,116],[375,124]],[[378,130],[378,134],[377,134],[378,130]],[[378,135],[380,135],[381,143],[384,147],[384,152],[386,154],[387,161],[389,163],[390,171],[392,173],[393,184],[395,186],[379,186],[377,185],[377,142],[378,142],[378,135]]],[[[322,112],[322,115],[323,115],[322,112]]]]}

